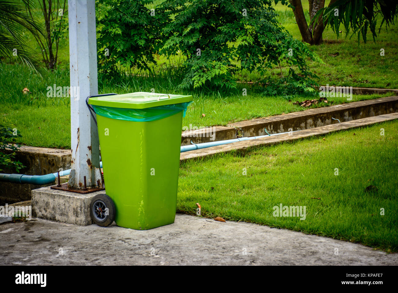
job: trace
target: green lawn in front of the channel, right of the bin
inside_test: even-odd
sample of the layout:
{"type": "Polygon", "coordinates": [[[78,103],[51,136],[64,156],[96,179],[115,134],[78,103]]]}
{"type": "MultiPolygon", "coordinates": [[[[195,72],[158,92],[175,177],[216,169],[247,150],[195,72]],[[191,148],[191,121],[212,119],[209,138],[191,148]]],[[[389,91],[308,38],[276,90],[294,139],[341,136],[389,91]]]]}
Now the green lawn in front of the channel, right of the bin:
{"type": "Polygon", "coordinates": [[[181,163],[178,211],[398,250],[398,122],[181,163]],[[384,128],[385,136],[380,136],[384,128]],[[247,175],[242,175],[246,168],[247,175]],[[338,175],[335,175],[338,168],[338,175]],[[365,191],[374,185],[377,191],[365,191]],[[313,199],[320,198],[320,199],[313,199]],[[273,206],[306,206],[305,220],[273,206]],[[384,209],[384,216],[380,209],[384,209]]]}

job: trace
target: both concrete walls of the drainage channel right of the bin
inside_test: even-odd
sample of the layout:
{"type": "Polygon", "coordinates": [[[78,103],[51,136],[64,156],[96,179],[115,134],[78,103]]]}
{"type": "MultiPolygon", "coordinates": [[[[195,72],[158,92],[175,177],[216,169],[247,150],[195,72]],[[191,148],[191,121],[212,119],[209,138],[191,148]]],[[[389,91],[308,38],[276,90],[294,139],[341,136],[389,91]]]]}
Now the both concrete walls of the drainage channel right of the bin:
{"type": "Polygon", "coordinates": [[[206,129],[193,130],[183,133],[183,144],[187,143],[187,138],[192,138],[191,144],[199,144],[199,141],[210,141],[211,139],[214,139],[214,141],[224,140],[225,138],[231,140],[234,133],[235,138],[236,133],[241,133],[244,137],[263,137],[246,142],[234,142],[232,144],[181,153],[180,160],[241,150],[250,146],[273,145],[278,142],[297,140],[338,130],[394,120],[398,118],[398,113],[396,112],[398,112],[398,96],[390,96],[376,100],[339,104],[267,118],[241,121],[228,124],[227,126],[217,126],[211,132],[211,135],[208,135],[210,131],[206,129]],[[237,129],[238,131],[236,131],[237,129]],[[271,135],[268,136],[267,134],[271,135]],[[280,135],[273,136],[275,134],[280,135]],[[197,142],[195,142],[195,138],[197,142]]]}

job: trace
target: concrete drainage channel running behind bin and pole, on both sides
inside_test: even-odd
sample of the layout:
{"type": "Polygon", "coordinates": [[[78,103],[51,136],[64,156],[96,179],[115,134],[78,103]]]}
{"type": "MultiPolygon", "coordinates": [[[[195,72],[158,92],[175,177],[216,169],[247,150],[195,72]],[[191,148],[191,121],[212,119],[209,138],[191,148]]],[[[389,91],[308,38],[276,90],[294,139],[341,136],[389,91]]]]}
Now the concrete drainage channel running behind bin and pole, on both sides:
{"type": "MultiPolygon", "coordinates": [[[[212,128],[203,128],[199,130],[189,130],[182,133],[181,149],[183,146],[193,146],[195,144],[216,143],[221,144],[224,140],[244,140],[240,142],[232,142],[217,146],[211,146],[203,149],[196,149],[193,146],[191,151],[181,152],[180,160],[193,159],[214,155],[215,153],[246,149],[251,146],[267,146],[277,144],[279,142],[297,140],[309,136],[327,134],[343,129],[355,128],[370,125],[387,120],[398,118],[398,96],[390,96],[375,100],[365,100],[360,102],[352,102],[348,104],[339,104],[334,106],[314,108],[301,112],[282,114],[271,116],[268,118],[259,118],[228,124],[227,126],[215,126],[212,128]],[[341,123],[339,123],[341,122],[341,123]],[[289,133],[287,133],[289,132],[289,133]],[[285,134],[283,134],[285,133],[285,134]],[[279,135],[275,135],[279,134],[279,135]],[[269,136],[271,135],[271,136],[269,136]],[[260,136],[254,140],[248,140],[249,137],[260,136]],[[262,136],[262,137],[261,137],[262,136]]],[[[17,159],[25,163],[24,158],[35,157],[35,161],[40,161],[41,169],[46,172],[38,174],[37,170],[32,174],[23,172],[26,175],[46,175],[48,173],[56,173],[59,167],[62,169],[70,168],[70,150],[47,149],[43,152],[43,148],[23,147],[23,151],[19,153],[17,159]],[[31,148],[32,152],[29,152],[31,148]],[[38,149],[41,149],[38,151],[38,149]],[[23,155],[22,155],[23,154],[23,155]],[[53,163],[57,158],[61,164],[53,163]],[[41,158],[44,157],[45,159],[41,158]],[[46,166],[43,161],[52,162],[51,166],[46,166]],[[45,166],[43,168],[43,166],[45,166]]],[[[27,164],[34,166],[35,162],[29,159],[27,164]],[[30,160],[30,161],[29,161],[30,160]]],[[[63,178],[65,182],[67,178],[63,178]]],[[[54,184],[54,183],[52,183],[54,184]]],[[[0,194],[7,194],[7,198],[0,196],[0,201],[21,201],[30,199],[30,189],[38,188],[36,185],[29,185],[29,190],[23,189],[25,193],[21,197],[21,184],[4,182],[0,185],[0,194]],[[4,190],[5,189],[5,190],[4,190]],[[4,192],[6,191],[6,192],[4,192]],[[13,196],[13,193],[17,196],[13,196]]],[[[83,221],[85,222],[85,221],[83,221]]]]}

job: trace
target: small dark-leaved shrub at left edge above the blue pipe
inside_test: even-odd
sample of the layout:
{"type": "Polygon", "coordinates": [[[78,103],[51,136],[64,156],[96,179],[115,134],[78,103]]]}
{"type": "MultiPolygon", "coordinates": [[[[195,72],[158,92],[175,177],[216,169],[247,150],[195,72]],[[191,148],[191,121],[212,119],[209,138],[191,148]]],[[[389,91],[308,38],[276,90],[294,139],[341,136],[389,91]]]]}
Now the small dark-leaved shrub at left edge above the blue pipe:
{"type": "MultiPolygon", "coordinates": [[[[20,147],[19,144],[16,144],[16,138],[18,137],[21,137],[18,130],[0,124],[0,167],[15,168],[19,173],[24,166],[20,161],[14,161],[15,151],[20,147]],[[11,149],[12,153],[4,153],[6,148],[11,149]]],[[[3,169],[0,169],[0,171],[3,171],[3,169]]]]}

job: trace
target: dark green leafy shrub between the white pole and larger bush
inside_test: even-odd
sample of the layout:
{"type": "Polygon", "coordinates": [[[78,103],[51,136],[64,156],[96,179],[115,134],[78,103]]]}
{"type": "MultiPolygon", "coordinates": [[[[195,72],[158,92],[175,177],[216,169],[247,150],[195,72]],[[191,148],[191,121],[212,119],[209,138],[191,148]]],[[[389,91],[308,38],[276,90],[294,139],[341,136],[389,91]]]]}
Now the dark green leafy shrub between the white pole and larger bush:
{"type": "Polygon", "coordinates": [[[151,0],[96,0],[99,71],[113,73],[117,65],[149,69],[160,48],[166,18],[144,5],[151,0]],[[152,13],[153,14],[153,13],[152,13]]]}

